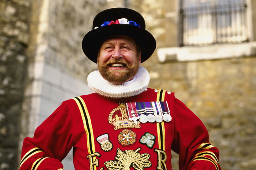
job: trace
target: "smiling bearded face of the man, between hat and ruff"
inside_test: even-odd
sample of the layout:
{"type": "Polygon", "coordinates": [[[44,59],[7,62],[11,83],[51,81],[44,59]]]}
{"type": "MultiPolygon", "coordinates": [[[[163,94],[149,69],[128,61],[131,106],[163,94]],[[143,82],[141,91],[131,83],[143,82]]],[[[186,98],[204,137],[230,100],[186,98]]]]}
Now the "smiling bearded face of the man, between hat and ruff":
{"type": "MultiPolygon", "coordinates": [[[[138,47],[139,48],[139,47],[138,47]]],[[[98,68],[101,76],[114,84],[133,79],[141,64],[141,52],[129,36],[112,36],[99,50],[98,68]]]]}

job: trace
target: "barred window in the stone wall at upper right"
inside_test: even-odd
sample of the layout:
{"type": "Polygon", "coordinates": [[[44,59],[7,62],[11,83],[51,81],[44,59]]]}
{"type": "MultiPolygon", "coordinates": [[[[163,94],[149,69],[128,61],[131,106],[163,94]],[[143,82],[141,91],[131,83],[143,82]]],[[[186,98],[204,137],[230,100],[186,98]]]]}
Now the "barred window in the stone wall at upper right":
{"type": "Polygon", "coordinates": [[[183,0],[181,46],[248,41],[245,0],[183,0]]]}

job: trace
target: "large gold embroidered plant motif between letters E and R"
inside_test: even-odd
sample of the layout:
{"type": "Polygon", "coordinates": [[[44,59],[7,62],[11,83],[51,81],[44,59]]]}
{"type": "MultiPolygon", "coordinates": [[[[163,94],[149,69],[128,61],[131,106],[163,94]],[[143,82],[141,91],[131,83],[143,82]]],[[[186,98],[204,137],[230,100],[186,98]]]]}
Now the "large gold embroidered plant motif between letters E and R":
{"type": "Polygon", "coordinates": [[[107,161],[104,163],[108,170],[130,170],[132,166],[135,170],[144,170],[149,168],[152,163],[149,161],[150,155],[147,153],[140,154],[141,148],[133,150],[125,150],[124,152],[117,149],[116,161],[107,161]]]}

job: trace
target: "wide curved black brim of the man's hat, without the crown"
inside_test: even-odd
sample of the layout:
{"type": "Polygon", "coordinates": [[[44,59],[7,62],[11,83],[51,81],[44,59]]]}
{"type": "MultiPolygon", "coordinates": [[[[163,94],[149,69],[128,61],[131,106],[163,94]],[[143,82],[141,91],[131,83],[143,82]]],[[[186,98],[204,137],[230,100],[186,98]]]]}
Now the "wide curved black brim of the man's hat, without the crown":
{"type": "Polygon", "coordinates": [[[88,32],[82,40],[84,54],[94,63],[97,63],[98,50],[103,41],[114,35],[132,37],[141,46],[141,63],[146,61],[155,51],[154,36],[145,29],[129,24],[113,24],[99,27],[88,32]]]}

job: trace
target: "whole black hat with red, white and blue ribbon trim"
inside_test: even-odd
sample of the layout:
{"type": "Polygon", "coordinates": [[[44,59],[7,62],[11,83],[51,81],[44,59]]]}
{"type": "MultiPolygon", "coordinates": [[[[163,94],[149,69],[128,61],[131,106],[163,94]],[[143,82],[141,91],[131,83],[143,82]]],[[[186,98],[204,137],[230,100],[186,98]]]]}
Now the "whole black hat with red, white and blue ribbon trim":
{"type": "Polygon", "coordinates": [[[141,63],[155,51],[155,38],[145,30],[145,21],[138,12],[128,8],[111,8],[97,14],[92,30],[82,40],[84,54],[97,63],[98,50],[104,39],[114,35],[126,35],[141,46],[141,63]]]}

